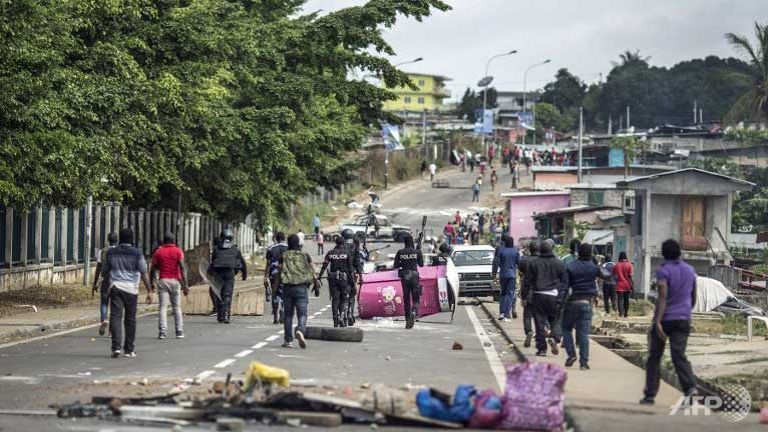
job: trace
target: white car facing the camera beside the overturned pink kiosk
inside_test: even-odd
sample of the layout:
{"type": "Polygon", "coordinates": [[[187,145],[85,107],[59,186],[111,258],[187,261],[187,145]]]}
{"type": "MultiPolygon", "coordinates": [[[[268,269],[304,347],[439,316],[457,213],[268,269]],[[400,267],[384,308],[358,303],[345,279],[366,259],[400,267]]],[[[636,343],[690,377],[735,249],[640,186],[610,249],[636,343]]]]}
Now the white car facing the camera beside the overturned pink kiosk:
{"type": "Polygon", "coordinates": [[[459,295],[464,297],[492,296],[498,301],[499,284],[493,281],[493,255],[489,245],[459,245],[453,247],[451,259],[459,273],[459,295]]]}

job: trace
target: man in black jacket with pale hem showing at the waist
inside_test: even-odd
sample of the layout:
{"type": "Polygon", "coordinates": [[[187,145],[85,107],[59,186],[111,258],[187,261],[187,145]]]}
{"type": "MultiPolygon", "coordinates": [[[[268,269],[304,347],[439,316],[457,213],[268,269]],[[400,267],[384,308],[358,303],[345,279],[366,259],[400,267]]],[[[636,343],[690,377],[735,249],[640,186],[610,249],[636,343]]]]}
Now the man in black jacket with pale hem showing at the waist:
{"type": "Polygon", "coordinates": [[[555,329],[560,316],[561,296],[565,290],[565,266],[552,252],[552,243],[541,242],[539,258],[531,264],[534,322],[536,323],[536,355],[547,355],[547,344],[557,355],[560,343],[555,329]]]}

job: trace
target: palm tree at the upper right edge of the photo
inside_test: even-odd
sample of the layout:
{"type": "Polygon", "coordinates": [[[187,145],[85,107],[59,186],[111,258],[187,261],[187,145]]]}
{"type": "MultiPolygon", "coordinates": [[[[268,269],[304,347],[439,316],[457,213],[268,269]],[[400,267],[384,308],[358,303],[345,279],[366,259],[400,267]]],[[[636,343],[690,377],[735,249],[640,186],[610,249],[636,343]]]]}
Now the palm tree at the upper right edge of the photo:
{"type": "Polygon", "coordinates": [[[730,120],[768,120],[768,25],[755,23],[754,45],[745,36],[727,33],[725,38],[737,51],[746,53],[749,69],[734,72],[737,77],[749,83],[750,90],[742,95],[728,113],[730,120]]]}

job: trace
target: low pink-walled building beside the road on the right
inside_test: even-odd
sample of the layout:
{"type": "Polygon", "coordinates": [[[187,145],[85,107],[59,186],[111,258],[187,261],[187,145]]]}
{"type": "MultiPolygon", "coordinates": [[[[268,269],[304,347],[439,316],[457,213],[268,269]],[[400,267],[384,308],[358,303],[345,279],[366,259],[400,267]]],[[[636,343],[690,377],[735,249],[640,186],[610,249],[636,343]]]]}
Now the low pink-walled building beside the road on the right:
{"type": "Polygon", "coordinates": [[[568,207],[568,191],[556,192],[509,192],[501,194],[507,199],[509,209],[509,234],[515,243],[521,238],[536,237],[535,213],[568,207]]]}

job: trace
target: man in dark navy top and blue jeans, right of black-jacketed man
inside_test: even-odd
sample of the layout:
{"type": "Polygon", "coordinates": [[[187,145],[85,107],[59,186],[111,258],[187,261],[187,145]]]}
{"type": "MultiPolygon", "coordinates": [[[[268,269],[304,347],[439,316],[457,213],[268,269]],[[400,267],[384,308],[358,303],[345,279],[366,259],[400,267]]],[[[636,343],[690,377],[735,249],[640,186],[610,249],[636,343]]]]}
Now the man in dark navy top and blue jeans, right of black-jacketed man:
{"type": "Polygon", "coordinates": [[[579,343],[579,365],[582,370],[589,369],[589,332],[592,329],[592,301],[597,296],[597,279],[606,276],[592,262],[592,245],[579,245],[579,259],[572,261],[566,268],[567,286],[570,295],[563,311],[563,338],[568,358],[565,366],[576,363],[576,347],[573,344],[573,330],[579,343]]]}

